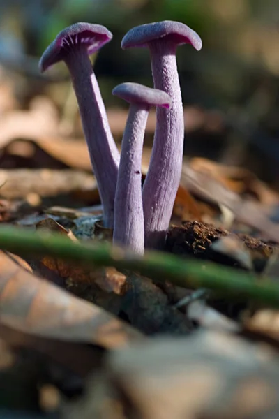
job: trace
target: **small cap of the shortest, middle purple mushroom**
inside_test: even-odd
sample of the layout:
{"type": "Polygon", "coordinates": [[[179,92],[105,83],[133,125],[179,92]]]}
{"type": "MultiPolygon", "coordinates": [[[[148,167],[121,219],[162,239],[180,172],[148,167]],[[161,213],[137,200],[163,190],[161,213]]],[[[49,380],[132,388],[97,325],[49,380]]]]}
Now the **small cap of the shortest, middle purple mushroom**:
{"type": "Polygon", "coordinates": [[[146,87],[139,83],[122,83],[112,90],[114,96],[129,103],[138,103],[149,106],[172,107],[172,98],[163,90],[146,87]]]}

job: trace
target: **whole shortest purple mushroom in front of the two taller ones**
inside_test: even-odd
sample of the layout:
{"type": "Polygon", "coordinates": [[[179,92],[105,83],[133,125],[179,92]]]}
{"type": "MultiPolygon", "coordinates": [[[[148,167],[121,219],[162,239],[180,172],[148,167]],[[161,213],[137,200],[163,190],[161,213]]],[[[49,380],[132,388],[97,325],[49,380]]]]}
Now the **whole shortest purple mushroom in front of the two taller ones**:
{"type": "Polygon", "coordinates": [[[142,207],[142,147],[152,105],[169,109],[172,99],[165,91],[137,83],[123,83],[112,94],[130,103],[123,133],[119,175],[114,200],[114,243],[144,253],[144,212],[142,207]]]}

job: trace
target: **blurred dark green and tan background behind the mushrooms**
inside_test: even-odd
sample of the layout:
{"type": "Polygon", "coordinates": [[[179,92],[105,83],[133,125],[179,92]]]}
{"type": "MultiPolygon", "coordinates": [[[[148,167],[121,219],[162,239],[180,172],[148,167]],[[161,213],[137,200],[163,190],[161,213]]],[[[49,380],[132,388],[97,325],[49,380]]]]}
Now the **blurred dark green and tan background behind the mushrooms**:
{"type": "MultiPolygon", "coordinates": [[[[1,168],[52,167],[54,158],[69,165],[45,142],[82,140],[75,96],[66,67],[40,75],[38,59],[61,29],[78,21],[103,24],[114,34],[95,69],[120,141],[126,104],[111,95],[112,88],[124,81],[152,86],[148,52],[123,51],[121,39],[131,27],[159,20],[184,22],[203,40],[200,52],[190,45],[177,52],[186,156],[248,168],[277,189],[278,0],[0,0],[1,168]],[[28,147],[15,143],[20,139],[28,147]]],[[[151,115],[146,145],[154,123],[151,115]]]]}

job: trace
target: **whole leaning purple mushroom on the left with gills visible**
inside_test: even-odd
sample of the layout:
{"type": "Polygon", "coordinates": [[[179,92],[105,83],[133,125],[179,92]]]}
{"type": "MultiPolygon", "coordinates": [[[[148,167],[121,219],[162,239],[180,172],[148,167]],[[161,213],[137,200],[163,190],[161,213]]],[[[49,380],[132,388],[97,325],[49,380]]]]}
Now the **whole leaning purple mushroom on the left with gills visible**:
{"type": "Polygon", "coordinates": [[[65,61],[68,66],[103,203],[104,226],[112,228],[120,157],[89,59],[89,55],[100,50],[111,39],[111,32],[100,24],[75,23],[56,36],[43,53],[39,67],[43,72],[58,61],[65,61]]]}

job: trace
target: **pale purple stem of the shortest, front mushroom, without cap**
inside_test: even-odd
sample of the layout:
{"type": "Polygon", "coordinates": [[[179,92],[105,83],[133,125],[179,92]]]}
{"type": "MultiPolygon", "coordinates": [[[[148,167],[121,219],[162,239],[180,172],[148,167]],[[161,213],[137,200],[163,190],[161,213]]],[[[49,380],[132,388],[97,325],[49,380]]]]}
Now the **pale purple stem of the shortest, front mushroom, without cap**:
{"type": "Polygon", "coordinates": [[[123,133],[114,202],[114,243],[144,253],[142,147],[149,105],[131,103],[123,133]]]}

